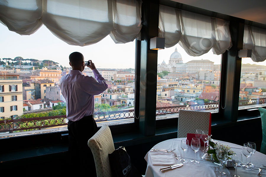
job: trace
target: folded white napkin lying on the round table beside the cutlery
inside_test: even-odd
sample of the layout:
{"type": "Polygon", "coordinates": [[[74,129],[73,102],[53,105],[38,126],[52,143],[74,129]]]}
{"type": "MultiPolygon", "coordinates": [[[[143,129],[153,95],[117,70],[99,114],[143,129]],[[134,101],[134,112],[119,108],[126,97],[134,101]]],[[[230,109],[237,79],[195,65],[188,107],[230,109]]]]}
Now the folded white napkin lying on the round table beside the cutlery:
{"type": "Polygon", "coordinates": [[[172,153],[162,151],[150,151],[150,158],[153,165],[174,165],[176,164],[172,153]]]}

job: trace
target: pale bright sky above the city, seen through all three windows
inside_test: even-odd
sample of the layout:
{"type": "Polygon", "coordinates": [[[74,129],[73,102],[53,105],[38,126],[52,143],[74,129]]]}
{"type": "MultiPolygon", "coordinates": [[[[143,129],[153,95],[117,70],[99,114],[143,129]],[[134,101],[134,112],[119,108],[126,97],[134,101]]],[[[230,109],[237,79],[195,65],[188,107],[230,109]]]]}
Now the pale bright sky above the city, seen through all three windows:
{"type": "MultiPolygon", "coordinates": [[[[135,67],[135,41],[115,44],[109,35],[96,44],[80,47],[60,40],[45,25],[42,25],[32,35],[19,35],[0,24],[0,39],[0,58],[14,59],[20,56],[24,59],[53,60],[59,65],[69,67],[69,54],[78,51],[84,55],[85,61],[92,60],[97,68],[135,67]]],[[[158,50],[158,64],[163,60],[168,64],[175,48],[181,54],[183,63],[201,59],[211,60],[214,64],[221,63],[221,55],[214,55],[212,50],[199,57],[193,57],[189,56],[179,44],[176,44],[174,47],[158,50]]],[[[243,58],[242,63],[266,65],[266,61],[253,62],[250,58],[243,58]]]]}

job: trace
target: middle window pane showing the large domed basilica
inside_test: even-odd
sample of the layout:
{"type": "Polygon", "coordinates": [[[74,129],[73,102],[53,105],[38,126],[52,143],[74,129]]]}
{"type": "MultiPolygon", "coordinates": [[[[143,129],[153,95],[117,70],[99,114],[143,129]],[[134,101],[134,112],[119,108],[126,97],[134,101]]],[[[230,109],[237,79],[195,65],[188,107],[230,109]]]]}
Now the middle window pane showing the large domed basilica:
{"type": "Polygon", "coordinates": [[[156,119],[178,117],[179,109],[218,112],[221,55],[199,57],[179,45],[158,50],[156,119]]]}

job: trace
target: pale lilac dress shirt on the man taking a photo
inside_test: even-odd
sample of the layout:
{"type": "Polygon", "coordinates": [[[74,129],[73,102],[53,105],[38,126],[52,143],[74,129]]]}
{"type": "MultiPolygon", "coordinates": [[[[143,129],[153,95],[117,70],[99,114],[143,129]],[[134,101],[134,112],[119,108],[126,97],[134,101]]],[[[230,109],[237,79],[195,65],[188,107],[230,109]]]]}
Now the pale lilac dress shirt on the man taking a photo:
{"type": "Polygon", "coordinates": [[[95,78],[84,76],[79,70],[70,70],[60,79],[61,93],[67,101],[67,119],[78,121],[84,116],[93,115],[94,95],[105,91],[108,86],[97,69],[95,78]]]}

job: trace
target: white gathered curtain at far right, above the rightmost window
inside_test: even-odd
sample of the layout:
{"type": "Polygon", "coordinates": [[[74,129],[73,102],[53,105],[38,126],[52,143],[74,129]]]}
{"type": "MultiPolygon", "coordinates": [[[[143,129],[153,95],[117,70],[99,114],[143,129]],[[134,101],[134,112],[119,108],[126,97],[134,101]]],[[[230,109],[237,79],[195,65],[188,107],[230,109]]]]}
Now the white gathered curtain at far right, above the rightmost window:
{"type": "Polygon", "coordinates": [[[266,30],[245,25],[243,49],[252,49],[251,59],[255,62],[266,60],[266,30]]]}

